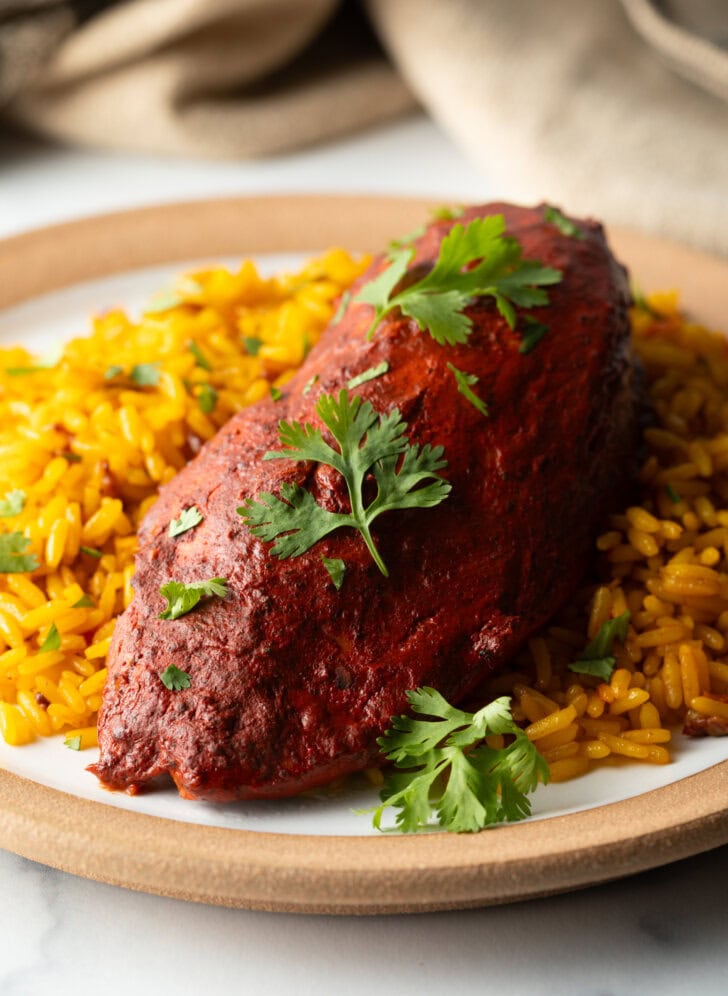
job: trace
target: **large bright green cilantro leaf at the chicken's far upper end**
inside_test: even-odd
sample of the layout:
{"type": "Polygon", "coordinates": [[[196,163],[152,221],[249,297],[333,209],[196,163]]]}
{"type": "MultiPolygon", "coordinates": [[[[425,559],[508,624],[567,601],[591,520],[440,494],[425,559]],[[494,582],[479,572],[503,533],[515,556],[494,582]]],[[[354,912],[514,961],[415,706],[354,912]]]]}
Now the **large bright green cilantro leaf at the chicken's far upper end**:
{"type": "Polygon", "coordinates": [[[543,287],[561,280],[560,270],[523,258],[520,244],[505,235],[502,215],[475,218],[467,227],[454,225],[440,243],[430,272],[395,294],[413,256],[411,247],[396,249],[389,267],[355,298],[374,308],[369,338],[382,319],[399,308],[440,345],[464,343],[473,324],[464,309],[473,298],[493,297],[513,328],[515,307],[548,304],[543,287]]]}

